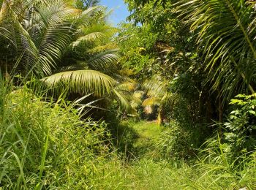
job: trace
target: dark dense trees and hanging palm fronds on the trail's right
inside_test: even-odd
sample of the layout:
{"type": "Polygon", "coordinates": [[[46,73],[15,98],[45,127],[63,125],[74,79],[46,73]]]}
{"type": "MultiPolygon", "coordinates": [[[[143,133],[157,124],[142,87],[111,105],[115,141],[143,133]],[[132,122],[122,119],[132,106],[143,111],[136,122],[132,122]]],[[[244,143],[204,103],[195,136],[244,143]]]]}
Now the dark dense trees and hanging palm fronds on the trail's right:
{"type": "Polygon", "coordinates": [[[231,98],[255,93],[254,3],[141,2],[127,0],[133,24],[121,25],[122,65],[142,83],[150,77],[147,96],[162,99],[167,120],[211,136],[216,128],[203,123],[222,122],[231,98]]]}

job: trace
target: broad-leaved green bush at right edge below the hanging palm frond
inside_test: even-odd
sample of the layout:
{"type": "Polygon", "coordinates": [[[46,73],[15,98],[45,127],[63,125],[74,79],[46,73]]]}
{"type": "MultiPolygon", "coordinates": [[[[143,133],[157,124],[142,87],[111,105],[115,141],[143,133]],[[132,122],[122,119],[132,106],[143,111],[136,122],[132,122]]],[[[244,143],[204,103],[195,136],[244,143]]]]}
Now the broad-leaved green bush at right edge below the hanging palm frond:
{"type": "Polygon", "coordinates": [[[255,151],[256,148],[256,94],[238,95],[232,99],[233,104],[228,122],[224,123],[224,133],[228,151],[233,157],[255,151]]]}

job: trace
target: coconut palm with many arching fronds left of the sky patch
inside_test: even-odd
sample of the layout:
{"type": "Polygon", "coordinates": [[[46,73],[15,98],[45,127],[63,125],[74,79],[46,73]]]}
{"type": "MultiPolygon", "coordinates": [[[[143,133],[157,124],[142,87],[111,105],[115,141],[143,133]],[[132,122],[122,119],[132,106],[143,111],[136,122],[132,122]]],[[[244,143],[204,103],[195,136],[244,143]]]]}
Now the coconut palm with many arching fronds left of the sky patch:
{"type": "Polygon", "coordinates": [[[71,0],[1,2],[0,43],[6,52],[1,51],[0,55],[13,53],[12,58],[5,60],[7,70],[43,77],[40,81],[46,86],[69,88],[71,93],[115,96],[129,107],[114,89],[122,81],[102,73],[109,72],[108,68],[113,73],[118,60],[116,50],[110,48],[114,47],[110,35],[115,30],[105,23],[105,8],[90,4],[81,11],[72,7],[72,3],[71,0]],[[79,53],[81,58],[74,58],[79,53]],[[68,60],[70,54],[73,59],[68,60]]]}

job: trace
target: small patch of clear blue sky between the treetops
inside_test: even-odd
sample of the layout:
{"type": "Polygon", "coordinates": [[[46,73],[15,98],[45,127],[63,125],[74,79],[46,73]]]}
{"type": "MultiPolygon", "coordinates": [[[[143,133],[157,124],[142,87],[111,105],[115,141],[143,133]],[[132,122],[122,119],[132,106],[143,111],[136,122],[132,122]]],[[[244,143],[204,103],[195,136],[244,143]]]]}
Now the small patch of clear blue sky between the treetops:
{"type": "Polygon", "coordinates": [[[110,23],[113,23],[115,26],[121,21],[125,21],[127,16],[129,16],[129,11],[123,0],[102,0],[101,4],[109,9],[113,9],[110,23]]]}

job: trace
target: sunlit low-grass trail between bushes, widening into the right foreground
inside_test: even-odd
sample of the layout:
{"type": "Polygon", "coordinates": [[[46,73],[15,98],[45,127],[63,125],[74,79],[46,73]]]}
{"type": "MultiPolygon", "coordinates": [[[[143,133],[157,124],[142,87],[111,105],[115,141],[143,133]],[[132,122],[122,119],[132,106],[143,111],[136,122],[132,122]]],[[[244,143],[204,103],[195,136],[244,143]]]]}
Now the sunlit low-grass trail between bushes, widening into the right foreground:
{"type": "MultiPolygon", "coordinates": [[[[167,159],[159,151],[159,148],[165,146],[159,143],[164,138],[162,132],[168,132],[164,126],[148,121],[123,121],[120,132],[123,151],[130,157],[126,157],[120,165],[114,165],[115,175],[106,181],[115,184],[115,189],[233,190],[245,186],[239,185],[236,176],[231,173],[228,173],[227,178],[227,174],[219,177],[216,172],[208,172],[222,167],[218,164],[167,159]]],[[[113,189],[113,186],[107,189],[113,189]]]]}

